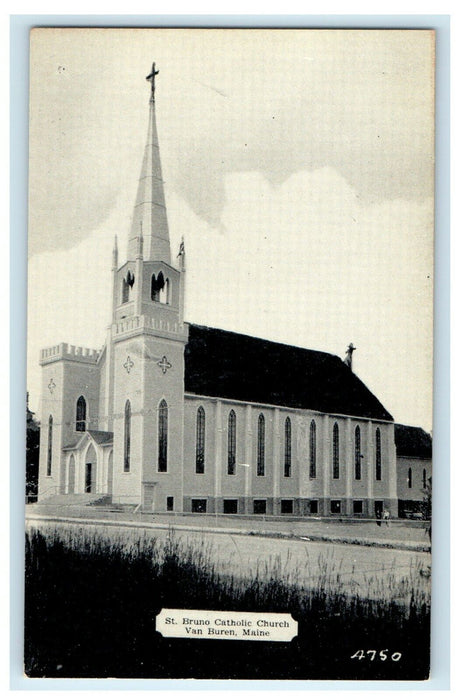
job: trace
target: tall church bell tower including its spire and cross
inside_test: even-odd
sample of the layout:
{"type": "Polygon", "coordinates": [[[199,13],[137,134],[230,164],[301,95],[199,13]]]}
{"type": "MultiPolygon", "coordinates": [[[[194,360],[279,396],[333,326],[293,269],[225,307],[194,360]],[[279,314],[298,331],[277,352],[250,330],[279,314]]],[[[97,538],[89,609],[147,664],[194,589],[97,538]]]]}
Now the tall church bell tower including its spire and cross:
{"type": "Polygon", "coordinates": [[[119,268],[113,265],[113,498],[146,509],[182,510],[185,265],[183,246],[180,269],[171,265],[155,116],[157,74],[153,64],[128,259],[119,268]]]}

